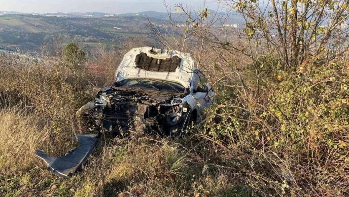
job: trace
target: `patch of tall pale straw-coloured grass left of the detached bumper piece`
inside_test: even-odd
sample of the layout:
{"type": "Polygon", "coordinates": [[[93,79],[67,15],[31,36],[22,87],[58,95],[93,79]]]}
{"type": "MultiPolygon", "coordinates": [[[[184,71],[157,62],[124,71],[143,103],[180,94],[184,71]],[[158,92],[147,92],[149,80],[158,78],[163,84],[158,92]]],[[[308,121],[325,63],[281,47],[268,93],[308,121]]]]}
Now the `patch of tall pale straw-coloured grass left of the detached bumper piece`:
{"type": "Polygon", "coordinates": [[[16,173],[37,165],[35,150],[49,150],[49,131],[34,116],[18,109],[0,111],[0,173],[16,173]]]}

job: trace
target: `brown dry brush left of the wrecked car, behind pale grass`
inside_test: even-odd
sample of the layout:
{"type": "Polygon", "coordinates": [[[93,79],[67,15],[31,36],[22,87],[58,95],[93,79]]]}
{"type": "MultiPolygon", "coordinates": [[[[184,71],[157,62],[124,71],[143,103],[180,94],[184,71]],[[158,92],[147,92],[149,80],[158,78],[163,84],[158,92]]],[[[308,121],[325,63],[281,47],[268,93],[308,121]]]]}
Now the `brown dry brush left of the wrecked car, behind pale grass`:
{"type": "Polygon", "coordinates": [[[71,137],[84,132],[76,124],[75,112],[94,94],[89,76],[57,65],[6,67],[0,75],[0,107],[17,106],[46,121],[52,154],[71,149],[71,137]]]}

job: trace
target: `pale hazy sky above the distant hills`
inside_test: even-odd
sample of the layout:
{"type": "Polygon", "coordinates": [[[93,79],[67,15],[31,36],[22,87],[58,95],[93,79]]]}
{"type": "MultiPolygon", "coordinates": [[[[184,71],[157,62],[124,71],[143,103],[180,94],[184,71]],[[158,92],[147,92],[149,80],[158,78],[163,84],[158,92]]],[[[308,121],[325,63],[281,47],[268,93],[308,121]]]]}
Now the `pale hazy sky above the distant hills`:
{"type": "MultiPolygon", "coordinates": [[[[209,8],[215,9],[216,3],[210,0],[209,8]]],[[[178,2],[191,3],[200,7],[203,0],[166,0],[174,9],[178,2]]],[[[165,12],[163,0],[0,0],[1,11],[19,12],[107,12],[133,13],[142,11],[165,12]]]]}

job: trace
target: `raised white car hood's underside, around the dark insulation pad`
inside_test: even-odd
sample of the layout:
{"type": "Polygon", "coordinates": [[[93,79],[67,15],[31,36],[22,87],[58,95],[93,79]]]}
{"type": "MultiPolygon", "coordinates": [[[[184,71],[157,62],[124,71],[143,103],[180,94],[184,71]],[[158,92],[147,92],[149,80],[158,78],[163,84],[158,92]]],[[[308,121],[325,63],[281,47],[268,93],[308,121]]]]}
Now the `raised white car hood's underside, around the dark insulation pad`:
{"type": "Polygon", "coordinates": [[[160,79],[177,82],[184,87],[189,87],[193,77],[194,60],[189,53],[180,52],[177,50],[161,50],[153,49],[152,47],[133,48],[124,55],[118,69],[115,73],[115,81],[123,79],[160,79]],[[140,53],[146,53],[147,56],[156,59],[167,59],[178,56],[180,66],[175,72],[154,72],[146,71],[136,67],[135,59],[140,53]]]}

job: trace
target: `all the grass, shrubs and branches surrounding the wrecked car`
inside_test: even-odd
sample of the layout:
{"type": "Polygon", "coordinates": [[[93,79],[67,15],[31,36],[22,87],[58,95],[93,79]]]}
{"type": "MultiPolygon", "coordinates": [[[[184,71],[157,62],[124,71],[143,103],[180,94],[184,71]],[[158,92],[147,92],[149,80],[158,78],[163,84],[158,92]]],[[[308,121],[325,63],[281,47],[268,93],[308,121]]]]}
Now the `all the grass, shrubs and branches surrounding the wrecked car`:
{"type": "MultiPolygon", "coordinates": [[[[103,135],[85,168],[68,179],[49,174],[34,150],[64,155],[76,146],[71,136],[96,132],[84,128],[76,110],[113,81],[124,53],[143,41],[129,40],[119,50],[99,44],[75,72],[62,58],[65,42],[55,42],[50,52],[43,45],[40,53],[48,55],[40,61],[1,55],[0,195],[349,196],[347,37],[331,26],[319,32],[319,24],[307,26],[316,29],[315,40],[312,34],[302,37],[310,19],[299,10],[292,19],[295,2],[274,2],[276,12],[267,16],[258,15],[264,10],[256,1],[229,3],[247,19],[241,39],[224,27],[224,35],[211,28],[221,22],[218,15],[208,9],[193,13],[183,4],[175,12],[188,19],[185,27],[173,17],[170,26],[156,26],[151,19],[147,25],[162,47],[190,52],[205,72],[216,98],[204,121],[174,139],[135,132],[125,139],[103,135]],[[276,13],[290,20],[279,18],[282,37],[269,37],[272,33],[261,32],[275,25],[278,32],[276,13]],[[252,15],[256,18],[248,18],[252,15]],[[327,44],[303,47],[292,42],[294,30],[302,43],[327,44]],[[325,42],[326,35],[332,41],[325,42]]],[[[342,1],[297,3],[325,5],[324,12],[337,13],[327,15],[335,24],[347,20],[342,1]]]]}

